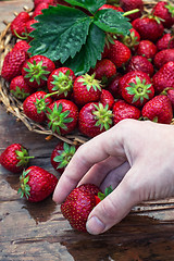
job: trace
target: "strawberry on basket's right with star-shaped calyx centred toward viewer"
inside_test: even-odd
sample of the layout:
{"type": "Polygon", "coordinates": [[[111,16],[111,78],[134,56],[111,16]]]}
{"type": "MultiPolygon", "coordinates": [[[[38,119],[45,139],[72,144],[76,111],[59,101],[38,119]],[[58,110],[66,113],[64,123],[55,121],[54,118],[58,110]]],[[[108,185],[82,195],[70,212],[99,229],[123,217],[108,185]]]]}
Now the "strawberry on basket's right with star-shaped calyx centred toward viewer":
{"type": "Polygon", "coordinates": [[[154,96],[151,79],[146,73],[129,77],[122,86],[123,99],[132,105],[142,107],[154,96]]]}

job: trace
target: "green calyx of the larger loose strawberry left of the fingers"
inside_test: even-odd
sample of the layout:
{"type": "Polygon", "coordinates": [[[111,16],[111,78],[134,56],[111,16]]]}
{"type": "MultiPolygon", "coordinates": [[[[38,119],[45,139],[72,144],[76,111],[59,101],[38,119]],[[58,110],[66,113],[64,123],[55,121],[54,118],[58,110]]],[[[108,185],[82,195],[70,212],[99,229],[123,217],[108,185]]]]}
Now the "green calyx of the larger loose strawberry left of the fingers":
{"type": "Polygon", "coordinates": [[[21,198],[25,196],[28,199],[28,197],[30,196],[30,187],[27,184],[29,181],[29,172],[30,170],[24,171],[20,176],[20,188],[17,194],[21,194],[21,198]]]}

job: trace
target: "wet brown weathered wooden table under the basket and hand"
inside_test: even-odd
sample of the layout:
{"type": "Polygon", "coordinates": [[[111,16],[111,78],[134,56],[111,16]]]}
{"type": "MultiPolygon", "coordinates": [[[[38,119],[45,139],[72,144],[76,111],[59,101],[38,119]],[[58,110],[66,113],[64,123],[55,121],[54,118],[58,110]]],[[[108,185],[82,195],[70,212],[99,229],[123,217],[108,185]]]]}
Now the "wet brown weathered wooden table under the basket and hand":
{"type": "MultiPolygon", "coordinates": [[[[0,13],[21,10],[23,2],[30,4],[0,2],[0,13]]],[[[28,132],[0,105],[0,153],[13,142],[23,144],[36,157],[30,164],[58,175],[50,164],[58,139],[48,141],[44,135],[28,132]]],[[[137,207],[109,232],[91,236],[73,231],[51,197],[29,203],[20,198],[17,189],[18,175],[0,166],[2,261],[174,261],[174,199],[137,207]]]]}

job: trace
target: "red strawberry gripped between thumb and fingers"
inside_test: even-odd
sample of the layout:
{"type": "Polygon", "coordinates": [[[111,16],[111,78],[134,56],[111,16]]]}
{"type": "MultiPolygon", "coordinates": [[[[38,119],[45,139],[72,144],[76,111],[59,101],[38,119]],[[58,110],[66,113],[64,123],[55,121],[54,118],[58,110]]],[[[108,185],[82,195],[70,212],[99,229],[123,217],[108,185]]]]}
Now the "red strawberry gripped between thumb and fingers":
{"type": "Polygon", "coordinates": [[[94,184],[84,184],[74,188],[61,204],[62,214],[73,228],[86,232],[89,213],[96,207],[96,196],[101,192],[94,184]]]}

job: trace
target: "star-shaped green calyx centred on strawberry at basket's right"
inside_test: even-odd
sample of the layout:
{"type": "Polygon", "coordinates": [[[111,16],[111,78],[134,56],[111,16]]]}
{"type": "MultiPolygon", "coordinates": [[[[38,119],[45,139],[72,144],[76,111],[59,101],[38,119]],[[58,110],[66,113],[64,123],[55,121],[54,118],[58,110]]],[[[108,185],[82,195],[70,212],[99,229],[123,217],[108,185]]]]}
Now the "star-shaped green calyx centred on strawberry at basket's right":
{"type": "Polygon", "coordinates": [[[127,94],[133,96],[133,103],[137,100],[142,104],[145,99],[149,99],[149,94],[151,94],[151,84],[146,85],[146,79],[140,79],[136,76],[136,84],[129,83],[129,87],[126,87],[127,94]]]}

